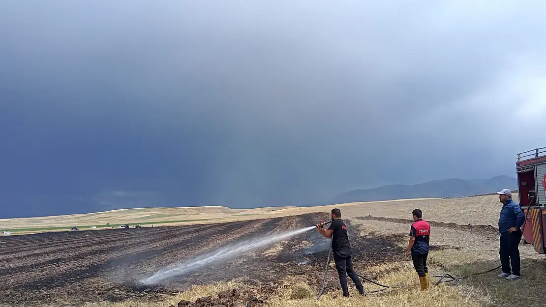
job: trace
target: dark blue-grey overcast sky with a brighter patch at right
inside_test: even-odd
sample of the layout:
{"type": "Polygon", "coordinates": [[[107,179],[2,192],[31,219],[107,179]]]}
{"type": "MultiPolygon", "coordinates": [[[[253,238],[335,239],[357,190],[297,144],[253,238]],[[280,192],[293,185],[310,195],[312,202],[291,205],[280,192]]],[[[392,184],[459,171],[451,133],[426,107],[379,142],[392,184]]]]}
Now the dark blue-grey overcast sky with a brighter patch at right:
{"type": "Polygon", "coordinates": [[[544,11],[2,1],[0,202],[255,207],[515,177],[546,146],[544,11]]]}

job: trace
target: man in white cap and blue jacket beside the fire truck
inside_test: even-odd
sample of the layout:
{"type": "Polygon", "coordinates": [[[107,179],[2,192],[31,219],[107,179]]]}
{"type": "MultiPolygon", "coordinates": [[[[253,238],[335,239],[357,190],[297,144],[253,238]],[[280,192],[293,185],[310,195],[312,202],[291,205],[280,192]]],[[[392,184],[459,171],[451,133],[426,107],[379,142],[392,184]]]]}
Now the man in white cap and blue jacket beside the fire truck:
{"type": "Polygon", "coordinates": [[[498,277],[507,280],[518,279],[521,278],[518,246],[525,215],[521,211],[519,203],[512,200],[511,190],[503,189],[497,194],[498,200],[502,202],[501,215],[498,219],[498,232],[501,233],[499,254],[502,274],[498,277]],[[511,263],[512,271],[510,270],[511,263]]]}

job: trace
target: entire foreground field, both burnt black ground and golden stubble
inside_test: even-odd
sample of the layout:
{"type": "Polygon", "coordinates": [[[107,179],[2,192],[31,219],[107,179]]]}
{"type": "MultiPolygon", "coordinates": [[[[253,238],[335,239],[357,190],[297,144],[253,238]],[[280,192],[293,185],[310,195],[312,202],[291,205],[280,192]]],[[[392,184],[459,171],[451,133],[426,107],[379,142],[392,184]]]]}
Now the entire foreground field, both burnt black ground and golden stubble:
{"type": "MultiPolygon", "coordinates": [[[[403,255],[414,208],[422,209],[424,218],[431,221],[430,275],[465,275],[499,264],[496,224],[501,204],[495,195],[284,208],[269,211],[265,219],[230,216],[239,221],[222,224],[2,238],[0,279],[8,282],[0,290],[4,294],[0,304],[168,307],[184,299],[191,306],[206,306],[210,300],[200,297],[217,298],[219,291],[236,288],[241,295],[226,304],[244,306],[248,298],[259,297],[269,306],[546,305],[544,256],[530,245],[520,246],[522,280],[499,280],[499,272],[491,272],[420,293],[411,261],[403,255]],[[328,255],[328,240],[316,231],[161,285],[135,282],[138,276],[239,239],[316,224],[333,207],[341,208],[349,224],[359,274],[404,288],[365,298],[353,291],[351,298],[340,298],[337,273],[330,262],[325,293],[314,300],[328,255]]],[[[369,282],[365,287],[369,292],[381,288],[369,282]]]]}

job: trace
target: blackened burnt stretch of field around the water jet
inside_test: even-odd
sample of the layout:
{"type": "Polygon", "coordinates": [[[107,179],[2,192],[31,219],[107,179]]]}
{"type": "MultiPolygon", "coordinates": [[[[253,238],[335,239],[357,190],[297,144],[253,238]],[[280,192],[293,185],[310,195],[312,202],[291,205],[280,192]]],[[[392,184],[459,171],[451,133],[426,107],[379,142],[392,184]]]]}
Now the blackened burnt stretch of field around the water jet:
{"type": "MultiPolygon", "coordinates": [[[[308,231],[244,256],[202,268],[197,272],[164,280],[160,285],[137,281],[176,262],[229,243],[263,237],[278,231],[316,224],[327,214],[306,214],[284,218],[228,222],[179,227],[143,227],[105,231],[50,232],[0,238],[0,304],[109,301],[130,298],[154,300],[192,284],[207,284],[246,276],[271,282],[286,275],[306,275],[321,285],[328,256],[329,240],[308,231]]],[[[384,263],[402,255],[399,238],[349,236],[359,266],[384,263]],[[370,246],[383,246],[381,251],[370,246]]],[[[355,264],[358,268],[358,266],[355,264]]],[[[338,284],[328,274],[327,290],[338,284]]]]}

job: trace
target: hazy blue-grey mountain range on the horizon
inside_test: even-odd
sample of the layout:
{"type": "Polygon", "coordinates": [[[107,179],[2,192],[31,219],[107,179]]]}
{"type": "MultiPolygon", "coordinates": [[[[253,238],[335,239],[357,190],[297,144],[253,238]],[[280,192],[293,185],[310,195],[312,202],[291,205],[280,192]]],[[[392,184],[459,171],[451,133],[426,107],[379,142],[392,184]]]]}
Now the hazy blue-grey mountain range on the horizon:
{"type": "Polygon", "coordinates": [[[359,201],[385,201],[403,198],[464,197],[489,194],[502,189],[516,190],[518,180],[510,176],[496,176],[490,179],[444,179],[425,183],[384,185],[375,189],[352,190],[335,196],[330,203],[359,201]]]}

